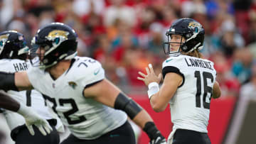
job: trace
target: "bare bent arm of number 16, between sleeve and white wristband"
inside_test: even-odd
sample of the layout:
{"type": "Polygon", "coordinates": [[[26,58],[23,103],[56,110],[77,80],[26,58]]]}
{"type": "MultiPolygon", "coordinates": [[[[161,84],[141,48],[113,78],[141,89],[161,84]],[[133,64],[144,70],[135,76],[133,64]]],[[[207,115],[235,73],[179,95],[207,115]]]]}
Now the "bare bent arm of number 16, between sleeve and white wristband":
{"type": "Polygon", "coordinates": [[[178,86],[181,85],[182,80],[181,75],[174,72],[169,72],[165,75],[163,85],[159,89],[159,92],[153,94],[150,98],[150,104],[154,111],[161,112],[166,109],[178,86]]]}

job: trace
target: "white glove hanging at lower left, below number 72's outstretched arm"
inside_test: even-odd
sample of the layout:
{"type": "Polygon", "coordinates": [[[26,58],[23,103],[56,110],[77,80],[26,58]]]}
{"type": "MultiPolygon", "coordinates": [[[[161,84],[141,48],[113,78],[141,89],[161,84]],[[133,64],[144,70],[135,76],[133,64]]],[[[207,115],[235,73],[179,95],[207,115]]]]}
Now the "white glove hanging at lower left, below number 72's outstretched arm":
{"type": "Polygon", "coordinates": [[[35,125],[43,135],[46,135],[47,133],[49,134],[50,131],[53,131],[53,128],[51,128],[48,121],[38,116],[38,114],[31,108],[21,105],[17,113],[20,113],[25,118],[26,127],[31,135],[35,135],[33,125],[35,125]]]}

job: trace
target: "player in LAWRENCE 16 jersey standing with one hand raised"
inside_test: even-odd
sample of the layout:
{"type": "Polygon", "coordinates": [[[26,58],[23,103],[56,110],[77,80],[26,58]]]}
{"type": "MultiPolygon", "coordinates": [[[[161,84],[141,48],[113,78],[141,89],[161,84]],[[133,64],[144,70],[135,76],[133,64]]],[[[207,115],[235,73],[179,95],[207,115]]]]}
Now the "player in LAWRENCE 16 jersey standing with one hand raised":
{"type": "Polygon", "coordinates": [[[146,74],[139,72],[138,79],[149,87],[154,111],[164,111],[170,104],[174,127],[168,143],[210,143],[210,99],[220,96],[220,87],[215,81],[213,62],[198,52],[203,48],[204,34],[197,21],[178,19],[166,32],[168,46],[164,50],[170,57],[163,62],[161,74],[157,77],[151,64],[146,67],[146,74]],[[162,77],[164,82],[159,88],[162,77]]]}

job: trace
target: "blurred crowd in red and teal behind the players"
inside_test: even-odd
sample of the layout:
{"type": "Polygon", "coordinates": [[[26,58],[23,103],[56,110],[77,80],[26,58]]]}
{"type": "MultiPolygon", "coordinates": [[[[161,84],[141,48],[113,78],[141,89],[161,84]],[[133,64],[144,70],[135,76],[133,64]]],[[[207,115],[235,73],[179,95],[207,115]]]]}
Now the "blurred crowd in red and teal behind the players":
{"type": "Polygon", "coordinates": [[[256,90],[255,0],[0,0],[0,31],[16,30],[28,45],[54,21],[78,33],[78,55],[102,63],[107,78],[128,94],[146,94],[137,72],[161,72],[165,33],[177,18],[205,28],[203,55],[215,62],[223,96],[256,90]]]}

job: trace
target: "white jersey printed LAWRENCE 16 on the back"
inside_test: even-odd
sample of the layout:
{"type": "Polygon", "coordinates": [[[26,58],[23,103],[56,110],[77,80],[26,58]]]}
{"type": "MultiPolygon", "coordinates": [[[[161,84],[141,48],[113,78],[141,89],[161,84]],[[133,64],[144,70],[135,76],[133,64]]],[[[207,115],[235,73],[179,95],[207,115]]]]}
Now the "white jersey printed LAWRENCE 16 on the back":
{"type": "Polygon", "coordinates": [[[216,71],[213,62],[187,55],[169,57],[162,73],[175,72],[183,77],[174,97],[169,101],[174,128],[207,133],[210,98],[216,71]]]}

